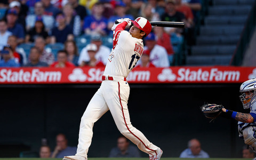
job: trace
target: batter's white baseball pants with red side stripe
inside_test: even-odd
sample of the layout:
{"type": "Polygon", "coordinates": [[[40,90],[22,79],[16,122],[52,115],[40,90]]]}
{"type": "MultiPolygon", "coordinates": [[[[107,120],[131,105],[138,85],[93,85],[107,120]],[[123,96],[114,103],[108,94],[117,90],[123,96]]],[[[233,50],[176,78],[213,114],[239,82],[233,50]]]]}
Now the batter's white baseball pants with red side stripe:
{"type": "MultiPolygon", "coordinates": [[[[118,79],[118,78],[116,78],[118,79]]],[[[110,110],[118,130],[138,148],[150,156],[156,155],[157,146],[149,142],[130,122],[127,100],[130,94],[129,84],[125,81],[102,81],[99,90],[87,106],[80,124],[77,156],[87,159],[88,149],[92,142],[92,128],[95,122],[110,110]]]]}

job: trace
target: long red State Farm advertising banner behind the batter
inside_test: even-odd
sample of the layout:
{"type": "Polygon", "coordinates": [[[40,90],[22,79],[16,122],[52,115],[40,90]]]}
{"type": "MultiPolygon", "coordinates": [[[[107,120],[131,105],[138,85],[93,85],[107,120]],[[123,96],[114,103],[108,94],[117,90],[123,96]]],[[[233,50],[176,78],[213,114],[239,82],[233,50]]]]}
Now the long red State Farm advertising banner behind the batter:
{"type": "MultiPolygon", "coordinates": [[[[104,68],[1,68],[0,84],[101,83],[104,68]]],[[[129,83],[242,83],[256,67],[134,68],[129,83]]]]}

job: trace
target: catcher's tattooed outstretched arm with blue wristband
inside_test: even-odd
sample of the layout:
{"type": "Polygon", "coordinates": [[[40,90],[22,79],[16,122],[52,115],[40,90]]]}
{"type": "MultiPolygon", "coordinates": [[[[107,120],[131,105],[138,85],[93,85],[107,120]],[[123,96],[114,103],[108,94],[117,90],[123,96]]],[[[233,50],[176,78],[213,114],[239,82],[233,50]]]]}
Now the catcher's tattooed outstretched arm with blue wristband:
{"type": "Polygon", "coordinates": [[[244,122],[244,123],[253,123],[256,121],[256,114],[255,113],[239,113],[232,110],[227,110],[225,108],[222,108],[222,115],[225,117],[230,117],[236,119],[237,121],[244,122]]]}

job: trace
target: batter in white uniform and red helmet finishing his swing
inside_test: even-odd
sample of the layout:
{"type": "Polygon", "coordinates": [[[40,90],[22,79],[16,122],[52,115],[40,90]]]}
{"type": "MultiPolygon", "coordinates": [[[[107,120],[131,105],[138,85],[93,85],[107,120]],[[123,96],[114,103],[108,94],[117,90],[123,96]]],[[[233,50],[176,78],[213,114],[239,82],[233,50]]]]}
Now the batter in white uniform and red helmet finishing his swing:
{"type": "Polygon", "coordinates": [[[139,130],[132,126],[127,107],[130,94],[126,77],[135,67],[143,53],[142,38],[151,31],[150,22],[142,17],[131,21],[119,19],[113,30],[113,49],[102,76],[99,90],[93,95],[82,118],[79,130],[77,153],[65,156],[63,160],[85,160],[92,141],[95,122],[110,110],[118,130],[140,150],[149,154],[150,160],[159,160],[163,151],[153,145],[139,130]],[[129,32],[124,30],[130,26],[129,32]]]}

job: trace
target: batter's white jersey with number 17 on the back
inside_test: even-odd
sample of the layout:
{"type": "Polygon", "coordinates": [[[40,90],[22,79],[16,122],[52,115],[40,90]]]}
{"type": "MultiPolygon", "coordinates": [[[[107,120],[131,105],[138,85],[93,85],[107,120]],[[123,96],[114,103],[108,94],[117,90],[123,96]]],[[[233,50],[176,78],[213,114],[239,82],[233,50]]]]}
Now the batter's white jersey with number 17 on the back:
{"type": "Polygon", "coordinates": [[[143,53],[143,41],[126,30],[117,30],[113,45],[104,75],[127,77],[143,53]]]}

